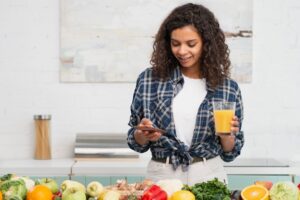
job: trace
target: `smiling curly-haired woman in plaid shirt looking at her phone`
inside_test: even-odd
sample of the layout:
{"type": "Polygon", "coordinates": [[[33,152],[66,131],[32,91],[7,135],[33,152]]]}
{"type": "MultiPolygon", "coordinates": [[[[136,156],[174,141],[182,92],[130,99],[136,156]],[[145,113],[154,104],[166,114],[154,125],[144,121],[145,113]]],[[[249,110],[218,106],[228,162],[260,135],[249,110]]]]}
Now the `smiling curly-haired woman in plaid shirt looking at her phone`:
{"type": "Polygon", "coordinates": [[[238,84],[229,78],[229,49],[218,21],[202,5],[179,6],[163,21],[153,49],[152,68],[136,82],[129,147],[151,150],[147,178],[154,181],[227,182],[222,160],[234,160],[243,147],[243,105],[238,84]],[[236,103],[232,134],[215,133],[213,101],[236,103]]]}

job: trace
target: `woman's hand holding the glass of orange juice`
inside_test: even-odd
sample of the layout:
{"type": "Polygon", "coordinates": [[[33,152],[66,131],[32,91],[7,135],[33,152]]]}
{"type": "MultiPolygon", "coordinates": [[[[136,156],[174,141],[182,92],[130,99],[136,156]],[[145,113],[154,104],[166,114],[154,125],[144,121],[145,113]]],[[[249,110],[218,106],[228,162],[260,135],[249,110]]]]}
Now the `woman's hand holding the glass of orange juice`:
{"type": "Polygon", "coordinates": [[[239,125],[240,123],[237,116],[234,116],[231,120],[231,128],[230,128],[231,134],[219,135],[222,148],[225,152],[230,152],[234,148],[235,134],[240,131],[239,125]]]}

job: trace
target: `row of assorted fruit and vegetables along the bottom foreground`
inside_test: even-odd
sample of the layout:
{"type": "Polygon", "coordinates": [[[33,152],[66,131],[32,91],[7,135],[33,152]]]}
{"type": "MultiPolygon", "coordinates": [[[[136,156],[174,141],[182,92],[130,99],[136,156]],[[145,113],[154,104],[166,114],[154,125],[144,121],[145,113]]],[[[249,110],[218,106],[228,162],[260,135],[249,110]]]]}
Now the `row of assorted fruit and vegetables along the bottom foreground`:
{"type": "Polygon", "coordinates": [[[230,191],[217,179],[195,185],[177,179],[133,184],[118,180],[110,186],[65,180],[58,185],[51,178],[0,176],[0,200],[300,200],[299,188],[292,182],[256,181],[241,191],[230,191]]]}

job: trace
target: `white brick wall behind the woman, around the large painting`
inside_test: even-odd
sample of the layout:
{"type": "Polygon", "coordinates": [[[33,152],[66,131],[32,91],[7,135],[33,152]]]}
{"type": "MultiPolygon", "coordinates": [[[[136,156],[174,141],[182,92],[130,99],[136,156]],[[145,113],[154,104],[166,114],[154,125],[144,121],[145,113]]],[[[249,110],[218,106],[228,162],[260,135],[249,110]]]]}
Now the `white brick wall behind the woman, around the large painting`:
{"type": "MultiPolygon", "coordinates": [[[[297,0],[254,1],[243,157],[300,153],[299,17],[297,0]]],[[[76,133],[126,133],[134,84],[59,82],[58,0],[0,0],[0,30],[0,160],[33,158],[34,114],[53,116],[53,158],[72,157],[76,133]]]]}

